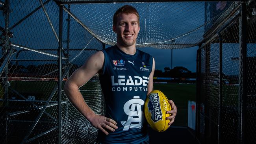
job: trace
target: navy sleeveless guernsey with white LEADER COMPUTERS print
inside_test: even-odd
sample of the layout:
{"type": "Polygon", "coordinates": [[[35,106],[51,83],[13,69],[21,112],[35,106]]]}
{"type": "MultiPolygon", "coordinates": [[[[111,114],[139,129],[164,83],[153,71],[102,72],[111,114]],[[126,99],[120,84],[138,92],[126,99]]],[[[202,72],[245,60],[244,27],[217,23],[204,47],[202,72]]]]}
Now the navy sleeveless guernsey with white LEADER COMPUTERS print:
{"type": "Polygon", "coordinates": [[[102,144],[138,144],[147,141],[144,102],[152,71],[152,56],[140,50],[128,55],[116,45],[102,52],[105,59],[99,78],[106,102],[106,117],[115,120],[118,129],[108,131],[109,135],[99,130],[98,141],[102,144]]]}

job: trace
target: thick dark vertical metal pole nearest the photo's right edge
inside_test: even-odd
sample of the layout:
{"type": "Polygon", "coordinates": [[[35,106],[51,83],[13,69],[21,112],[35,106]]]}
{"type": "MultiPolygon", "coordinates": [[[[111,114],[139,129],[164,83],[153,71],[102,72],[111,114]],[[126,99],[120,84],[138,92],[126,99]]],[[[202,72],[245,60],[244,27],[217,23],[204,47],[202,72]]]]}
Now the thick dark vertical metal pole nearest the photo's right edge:
{"type": "Polygon", "coordinates": [[[239,143],[245,143],[245,112],[246,112],[246,60],[247,60],[247,43],[246,43],[246,26],[247,26],[247,16],[246,16],[246,6],[243,2],[240,6],[241,15],[239,17],[239,143]]]}

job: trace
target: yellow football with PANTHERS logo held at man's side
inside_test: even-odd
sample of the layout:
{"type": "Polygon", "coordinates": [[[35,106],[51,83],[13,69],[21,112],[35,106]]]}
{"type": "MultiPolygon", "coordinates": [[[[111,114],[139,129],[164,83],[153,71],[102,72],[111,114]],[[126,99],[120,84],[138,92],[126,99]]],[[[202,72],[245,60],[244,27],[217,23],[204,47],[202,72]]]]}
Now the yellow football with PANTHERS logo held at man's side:
{"type": "Polygon", "coordinates": [[[165,131],[169,127],[170,120],[165,120],[165,118],[171,116],[171,114],[166,114],[166,111],[171,111],[171,105],[163,92],[160,90],[150,92],[144,108],[145,117],[152,129],[165,131]]]}

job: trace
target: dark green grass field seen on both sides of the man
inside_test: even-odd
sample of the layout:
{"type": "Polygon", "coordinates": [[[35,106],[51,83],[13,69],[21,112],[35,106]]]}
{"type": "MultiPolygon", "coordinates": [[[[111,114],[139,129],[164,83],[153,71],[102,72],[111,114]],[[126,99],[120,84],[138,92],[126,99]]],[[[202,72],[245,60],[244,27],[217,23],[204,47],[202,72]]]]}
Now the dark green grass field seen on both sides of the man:
{"type": "MultiPolygon", "coordinates": [[[[88,82],[80,89],[98,89],[94,82],[88,82]]],[[[11,81],[11,87],[17,90],[24,96],[32,95],[36,100],[47,100],[53,88],[57,85],[56,81],[11,81]]],[[[196,100],[196,85],[195,84],[178,84],[154,83],[154,90],[161,90],[169,100],[173,100],[178,107],[178,113],[173,126],[187,126],[187,105],[188,101],[196,100]]],[[[12,94],[12,93],[10,93],[12,94]]],[[[52,100],[56,100],[55,96],[52,100]]]]}

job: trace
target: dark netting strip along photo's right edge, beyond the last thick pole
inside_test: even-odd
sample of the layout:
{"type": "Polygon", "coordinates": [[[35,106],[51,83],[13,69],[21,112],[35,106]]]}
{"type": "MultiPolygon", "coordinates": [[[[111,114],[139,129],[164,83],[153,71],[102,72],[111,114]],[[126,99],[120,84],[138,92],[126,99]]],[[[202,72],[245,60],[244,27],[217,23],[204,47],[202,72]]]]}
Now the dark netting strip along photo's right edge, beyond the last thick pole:
{"type": "Polygon", "coordinates": [[[245,140],[248,144],[256,141],[256,2],[247,5],[247,109],[245,140]]]}

